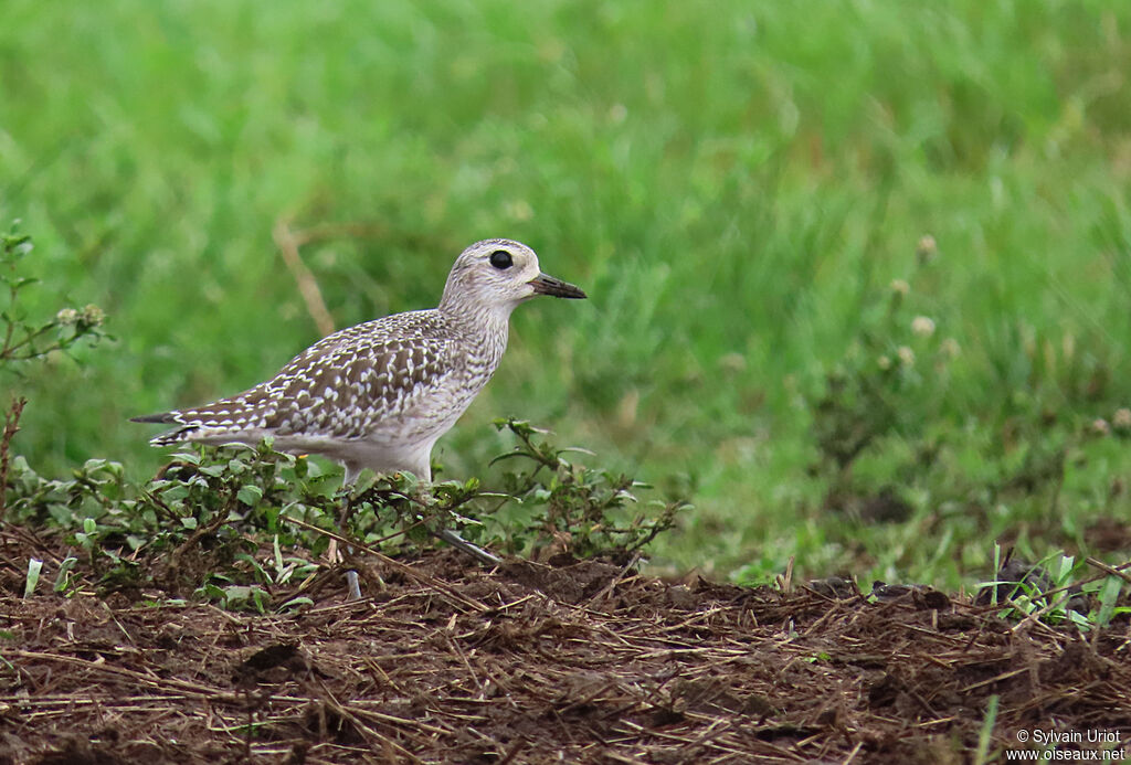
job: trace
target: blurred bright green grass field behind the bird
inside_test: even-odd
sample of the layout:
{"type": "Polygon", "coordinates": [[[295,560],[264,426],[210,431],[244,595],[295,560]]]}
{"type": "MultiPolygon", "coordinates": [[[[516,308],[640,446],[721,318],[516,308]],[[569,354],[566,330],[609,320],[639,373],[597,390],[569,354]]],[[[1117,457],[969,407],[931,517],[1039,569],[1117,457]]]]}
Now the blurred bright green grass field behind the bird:
{"type": "Polygon", "coordinates": [[[291,217],[362,225],[303,250],[342,327],[433,305],[485,236],[584,286],[516,313],[437,455],[482,473],[508,447],[490,421],[516,416],[690,490],[661,565],[760,579],[795,555],[805,575],[955,585],[986,577],[995,540],[1087,554],[1095,519],[1129,516],[1125,442],[1086,433],[1131,405],[1131,7],[0,15],[0,218],[35,236],[31,307],[96,303],[118,338],[0,379],[32,400],[17,445],[42,472],[152,475],[127,417],[236,392],[317,339],[271,240],[291,217]],[[939,255],[920,267],[924,234],[939,255]],[[892,279],[910,285],[895,311],[892,279]],[[932,338],[910,333],[921,314],[932,338]],[[896,412],[836,470],[826,374],[869,380],[905,344],[914,370],[834,407],[896,412]],[[883,487],[906,520],[854,510],[883,487]]]}

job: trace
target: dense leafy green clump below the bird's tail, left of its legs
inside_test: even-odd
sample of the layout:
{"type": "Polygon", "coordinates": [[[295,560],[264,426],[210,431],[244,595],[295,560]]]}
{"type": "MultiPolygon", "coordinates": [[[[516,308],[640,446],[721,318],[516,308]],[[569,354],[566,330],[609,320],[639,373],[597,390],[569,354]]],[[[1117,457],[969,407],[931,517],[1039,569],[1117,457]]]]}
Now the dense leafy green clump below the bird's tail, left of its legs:
{"type": "Polygon", "coordinates": [[[87,577],[102,588],[159,585],[176,593],[230,567],[247,573],[250,582],[280,584],[307,573],[309,562],[280,553],[275,566],[265,567],[252,556],[265,538],[325,549],[323,537],[296,531],[284,518],[331,528],[336,497],[323,483],[307,460],[278,454],[267,444],[185,451],[140,486],[107,460],[89,460],[70,478],[52,480],[17,457],[9,521],[69,538],[77,555],[59,573],[64,586],[87,577]]]}

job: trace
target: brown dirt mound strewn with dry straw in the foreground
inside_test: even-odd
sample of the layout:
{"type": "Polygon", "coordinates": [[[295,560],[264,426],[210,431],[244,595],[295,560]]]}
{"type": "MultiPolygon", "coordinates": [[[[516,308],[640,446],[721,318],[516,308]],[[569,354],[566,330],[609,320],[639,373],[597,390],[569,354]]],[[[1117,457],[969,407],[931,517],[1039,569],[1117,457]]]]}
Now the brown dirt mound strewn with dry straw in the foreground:
{"type": "Polygon", "coordinates": [[[961,763],[994,695],[991,758],[1131,737],[1125,620],[553,563],[432,554],[297,616],[2,596],[0,763],[961,763]]]}

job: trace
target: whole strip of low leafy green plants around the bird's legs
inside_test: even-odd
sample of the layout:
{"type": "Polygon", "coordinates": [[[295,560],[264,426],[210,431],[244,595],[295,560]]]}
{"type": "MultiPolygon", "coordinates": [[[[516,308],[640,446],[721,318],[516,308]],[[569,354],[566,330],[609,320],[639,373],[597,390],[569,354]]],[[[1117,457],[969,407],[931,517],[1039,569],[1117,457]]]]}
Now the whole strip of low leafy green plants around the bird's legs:
{"type": "MultiPolygon", "coordinates": [[[[148,590],[231,609],[291,610],[309,605],[301,584],[322,571],[328,537],[319,529],[395,553],[426,541],[429,530],[460,527],[508,551],[551,548],[578,557],[634,553],[670,529],[682,502],[637,508],[639,481],[567,462],[526,423],[499,424],[518,438],[501,459],[526,470],[484,492],[477,478],[425,490],[409,473],[370,476],[340,489],[310,460],[258,447],[190,446],[152,480],[131,485],[122,466],[89,460],[67,479],[38,476],[12,461],[9,521],[66,536],[74,555],[55,589],[148,590]],[[631,492],[630,492],[631,489],[631,492]],[[492,516],[500,506],[509,513],[492,516]],[[288,522],[291,519],[301,524],[288,522]],[[484,519],[484,520],[476,520],[484,519]]],[[[42,565],[28,573],[34,591],[42,565]]]]}

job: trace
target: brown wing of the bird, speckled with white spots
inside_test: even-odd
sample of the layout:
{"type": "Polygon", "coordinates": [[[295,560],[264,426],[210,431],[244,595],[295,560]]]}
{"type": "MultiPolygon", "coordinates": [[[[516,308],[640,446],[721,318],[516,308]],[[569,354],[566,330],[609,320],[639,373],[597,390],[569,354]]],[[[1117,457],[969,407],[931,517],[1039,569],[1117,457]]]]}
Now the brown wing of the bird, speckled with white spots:
{"type": "Polygon", "coordinates": [[[225,436],[362,438],[400,431],[406,414],[452,373],[455,338],[435,312],[387,316],[335,332],[274,379],[213,403],[139,418],[182,427],[156,446],[225,436]]]}

